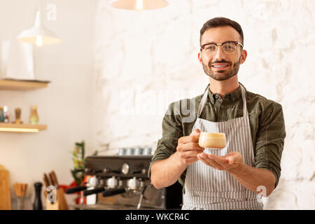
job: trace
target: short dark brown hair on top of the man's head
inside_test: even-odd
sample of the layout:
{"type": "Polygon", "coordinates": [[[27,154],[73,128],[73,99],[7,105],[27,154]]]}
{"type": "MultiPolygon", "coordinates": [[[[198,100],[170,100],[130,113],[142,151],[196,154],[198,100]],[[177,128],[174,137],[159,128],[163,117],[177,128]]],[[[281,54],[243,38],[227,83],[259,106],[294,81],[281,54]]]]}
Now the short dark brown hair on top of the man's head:
{"type": "Polygon", "coordinates": [[[241,36],[241,44],[244,45],[244,34],[243,30],[241,29],[241,25],[239,25],[237,22],[233,20],[224,17],[216,17],[204,23],[204,26],[202,27],[202,29],[200,29],[200,44],[202,35],[204,34],[205,31],[207,31],[207,29],[225,26],[230,26],[236,29],[236,31],[239,33],[239,36],[241,36]]]}

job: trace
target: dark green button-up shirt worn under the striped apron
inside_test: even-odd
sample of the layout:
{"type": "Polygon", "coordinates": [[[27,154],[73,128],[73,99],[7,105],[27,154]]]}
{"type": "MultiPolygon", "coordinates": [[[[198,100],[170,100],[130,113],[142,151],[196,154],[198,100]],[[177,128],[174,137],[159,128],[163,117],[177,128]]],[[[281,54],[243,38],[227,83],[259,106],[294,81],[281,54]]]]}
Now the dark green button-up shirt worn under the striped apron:
{"type": "MultiPolygon", "coordinates": [[[[241,83],[239,84],[241,85],[241,83]]],[[[179,138],[190,135],[197,120],[198,107],[202,96],[203,94],[200,94],[193,99],[181,99],[179,102],[169,104],[162,121],[162,139],[158,141],[151,165],[157,160],[169,158],[170,155],[176,152],[179,138]],[[187,104],[190,106],[189,103],[192,100],[195,100],[195,119],[192,122],[183,122],[183,118],[188,118],[189,114],[186,111],[181,111],[181,105],[185,103],[185,106],[187,104]],[[172,113],[169,113],[170,111],[172,113]],[[179,112],[174,113],[174,111],[179,112]]],[[[247,90],[246,102],[251,125],[255,167],[271,171],[276,177],[275,186],[277,186],[281,174],[281,154],[286,137],[282,106],[247,90]]],[[[183,108],[187,108],[185,106],[183,108]]],[[[243,116],[243,99],[241,99],[241,87],[238,87],[234,92],[225,94],[223,98],[220,94],[209,91],[207,104],[204,106],[200,118],[211,122],[222,122],[241,116],[243,116]]],[[[151,165],[148,171],[149,178],[151,178],[151,165]]],[[[185,184],[185,178],[186,171],[179,179],[182,186],[185,184]]]]}

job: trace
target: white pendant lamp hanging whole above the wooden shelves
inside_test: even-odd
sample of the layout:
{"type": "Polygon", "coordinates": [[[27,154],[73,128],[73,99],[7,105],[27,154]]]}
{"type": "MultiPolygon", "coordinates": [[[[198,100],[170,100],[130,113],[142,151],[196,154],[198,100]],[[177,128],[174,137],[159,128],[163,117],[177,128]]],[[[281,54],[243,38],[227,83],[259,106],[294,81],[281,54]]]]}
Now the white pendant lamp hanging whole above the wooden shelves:
{"type": "Polygon", "coordinates": [[[62,40],[59,39],[53,31],[50,31],[41,24],[41,1],[39,1],[38,3],[38,10],[36,11],[34,27],[22,31],[17,39],[18,41],[31,43],[38,47],[41,47],[42,45],[56,44],[62,42],[62,40]]]}

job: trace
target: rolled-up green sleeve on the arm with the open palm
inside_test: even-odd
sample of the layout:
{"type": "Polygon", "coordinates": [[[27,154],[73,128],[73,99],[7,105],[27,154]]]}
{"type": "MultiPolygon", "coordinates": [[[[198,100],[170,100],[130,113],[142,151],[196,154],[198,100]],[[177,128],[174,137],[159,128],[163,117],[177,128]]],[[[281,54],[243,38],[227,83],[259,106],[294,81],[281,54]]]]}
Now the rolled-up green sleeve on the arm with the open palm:
{"type": "Polygon", "coordinates": [[[276,177],[275,187],[281,174],[281,155],[286,138],[283,110],[280,104],[269,102],[262,111],[255,145],[255,167],[268,169],[276,177]]]}

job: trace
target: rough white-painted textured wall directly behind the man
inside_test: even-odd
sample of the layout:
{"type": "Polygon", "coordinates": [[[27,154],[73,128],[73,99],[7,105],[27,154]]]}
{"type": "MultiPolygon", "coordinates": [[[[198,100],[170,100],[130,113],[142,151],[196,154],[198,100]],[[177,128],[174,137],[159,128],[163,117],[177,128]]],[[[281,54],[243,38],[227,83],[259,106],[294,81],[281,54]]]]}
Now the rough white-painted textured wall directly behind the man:
{"type": "Polygon", "coordinates": [[[248,57],[239,81],[283,107],[286,140],[279,186],[265,209],[315,209],[314,10],[307,0],[169,1],[127,11],[97,1],[93,141],[104,155],[152,146],[167,105],[202,94],[209,82],[197,61],[200,29],[223,16],[244,29],[248,57]]]}

